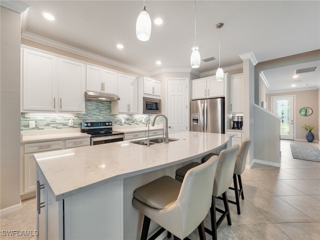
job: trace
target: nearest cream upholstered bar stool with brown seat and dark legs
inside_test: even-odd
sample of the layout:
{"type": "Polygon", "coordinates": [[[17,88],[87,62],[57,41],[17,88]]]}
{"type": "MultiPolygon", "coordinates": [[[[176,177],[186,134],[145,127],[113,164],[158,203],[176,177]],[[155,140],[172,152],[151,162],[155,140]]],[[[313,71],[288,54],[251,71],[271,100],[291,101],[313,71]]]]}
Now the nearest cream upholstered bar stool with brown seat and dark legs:
{"type": "Polygon", "coordinates": [[[132,205],[144,215],[140,239],[147,239],[151,219],[161,226],[151,239],[165,229],[184,239],[196,228],[205,239],[203,219],[211,205],[216,166],[217,156],[190,168],[182,183],[162,176],[135,189],[132,205]]]}

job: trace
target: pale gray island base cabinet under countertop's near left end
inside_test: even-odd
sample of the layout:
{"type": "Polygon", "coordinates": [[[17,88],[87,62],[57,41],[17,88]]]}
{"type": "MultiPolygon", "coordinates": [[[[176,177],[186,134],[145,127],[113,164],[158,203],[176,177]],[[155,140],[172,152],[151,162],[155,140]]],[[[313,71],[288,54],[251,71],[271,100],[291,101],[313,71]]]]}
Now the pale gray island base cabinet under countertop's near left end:
{"type": "Polygon", "coordinates": [[[38,168],[36,175],[38,239],[122,238],[122,179],[56,201],[38,168]]]}

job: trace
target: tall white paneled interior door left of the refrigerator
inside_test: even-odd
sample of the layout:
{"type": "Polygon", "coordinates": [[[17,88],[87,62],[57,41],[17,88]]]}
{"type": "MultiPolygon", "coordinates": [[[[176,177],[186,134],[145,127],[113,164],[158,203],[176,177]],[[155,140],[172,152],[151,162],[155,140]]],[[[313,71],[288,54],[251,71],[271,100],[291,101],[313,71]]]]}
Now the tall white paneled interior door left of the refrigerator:
{"type": "Polygon", "coordinates": [[[167,117],[169,133],[187,131],[188,78],[167,79],[167,117]]]}

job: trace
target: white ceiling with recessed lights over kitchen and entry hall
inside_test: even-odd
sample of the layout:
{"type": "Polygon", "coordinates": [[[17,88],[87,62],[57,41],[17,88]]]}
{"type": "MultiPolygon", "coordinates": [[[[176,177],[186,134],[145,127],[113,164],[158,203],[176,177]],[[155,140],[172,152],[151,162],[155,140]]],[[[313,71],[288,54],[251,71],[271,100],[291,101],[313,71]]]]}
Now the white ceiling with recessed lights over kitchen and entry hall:
{"type": "MultiPolygon", "coordinates": [[[[137,15],[143,8],[139,0],[22,0],[29,5],[22,17],[22,37],[61,46],[72,46],[93,53],[115,65],[153,75],[161,71],[190,71],[190,54],[194,46],[193,0],[146,0],[151,20],[161,17],[163,23],[152,22],[151,37],[142,42],[135,36],[137,15]],[[43,18],[41,12],[55,16],[43,18]],[[123,49],[116,44],[123,44],[123,49]],[[160,60],[160,65],[155,64],[160,60]]],[[[240,54],[253,52],[258,62],[320,49],[320,1],[215,1],[196,0],[196,45],[201,61],[192,69],[197,75],[218,67],[220,28],[221,67],[241,66],[240,54]]],[[[320,58],[319,58],[320,59],[320,58]]],[[[307,60],[306,60],[307,61],[307,60]]],[[[308,63],[303,63],[308,65],[308,63]]],[[[299,84],[319,87],[319,61],[316,71],[308,73],[299,84]]],[[[304,67],[304,66],[303,66],[304,67]]],[[[263,71],[269,91],[290,89],[292,69],[279,67],[263,71]]],[[[293,70],[294,72],[294,70],[293,70]]],[[[306,74],[306,73],[303,73],[306,74]]],[[[296,80],[296,79],[294,79],[296,80]]],[[[295,88],[297,89],[297,87],[295,88]]]]}

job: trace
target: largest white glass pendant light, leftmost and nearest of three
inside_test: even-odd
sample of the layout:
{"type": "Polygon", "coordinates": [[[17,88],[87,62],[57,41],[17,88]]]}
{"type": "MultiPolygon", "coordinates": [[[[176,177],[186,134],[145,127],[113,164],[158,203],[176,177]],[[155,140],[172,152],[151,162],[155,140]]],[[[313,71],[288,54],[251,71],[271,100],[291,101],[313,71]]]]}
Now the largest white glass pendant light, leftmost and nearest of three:
{"type": "Polygon", "coordinates": [[[140,41],[147,41],[151,35],[151,18],[147,10],[145,10],[144,0],[143,9],[140,11],[135,25],[136,37],[140,41]]]}

